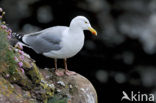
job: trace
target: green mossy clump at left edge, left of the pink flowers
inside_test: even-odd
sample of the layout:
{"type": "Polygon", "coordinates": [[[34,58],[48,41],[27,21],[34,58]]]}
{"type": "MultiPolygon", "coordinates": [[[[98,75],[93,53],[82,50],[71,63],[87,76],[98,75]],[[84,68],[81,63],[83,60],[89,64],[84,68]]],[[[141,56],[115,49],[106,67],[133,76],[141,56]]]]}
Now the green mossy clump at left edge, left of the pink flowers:
{"type": "Polygon", "coordinates": [[[0,28],[0,69],[1,74],[10,74],[11,82],[18,81],[20,79],[20,74],[17,71],[17,63],[14,60],[15,54],[11,49],[8,40],[7,32],[5,29],[0,28]],[[10,49],[9,49],[10,48],[10,49]]]}

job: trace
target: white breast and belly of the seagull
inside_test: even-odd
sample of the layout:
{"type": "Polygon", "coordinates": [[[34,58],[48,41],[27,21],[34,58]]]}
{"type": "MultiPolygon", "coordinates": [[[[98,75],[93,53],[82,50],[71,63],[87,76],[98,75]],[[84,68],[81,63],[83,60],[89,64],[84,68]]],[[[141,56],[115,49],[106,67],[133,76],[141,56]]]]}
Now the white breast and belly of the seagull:
{"type": "Polygon", "coordinates": [[[51,58],[70,58],[76,55],[84,45],[83,31],[70,34],[66,31],[62,37],[62,49],[59,51],[51,51],[44,53],[44,55],[51,58]]]}

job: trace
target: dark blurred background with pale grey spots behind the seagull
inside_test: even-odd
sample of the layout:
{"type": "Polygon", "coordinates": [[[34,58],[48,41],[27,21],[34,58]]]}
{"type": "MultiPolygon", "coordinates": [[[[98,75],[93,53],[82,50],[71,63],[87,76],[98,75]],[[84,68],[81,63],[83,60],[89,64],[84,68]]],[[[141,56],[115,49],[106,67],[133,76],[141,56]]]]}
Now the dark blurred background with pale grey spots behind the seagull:
{"type": "MultiPolygon", "coordinates": [[[[99,103],[120,103],[122,91],[156,97],[156,0],[0,0],[0,7],[9,27],[22,34],[86,16],[98,36],[85,31],[84,48],[68,60],[69,69],[93,83],[99,103]]],[[[38,66],[54,67],[25,50],[38,66]]]]}

